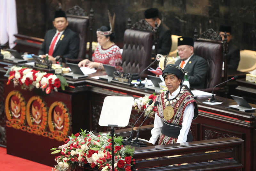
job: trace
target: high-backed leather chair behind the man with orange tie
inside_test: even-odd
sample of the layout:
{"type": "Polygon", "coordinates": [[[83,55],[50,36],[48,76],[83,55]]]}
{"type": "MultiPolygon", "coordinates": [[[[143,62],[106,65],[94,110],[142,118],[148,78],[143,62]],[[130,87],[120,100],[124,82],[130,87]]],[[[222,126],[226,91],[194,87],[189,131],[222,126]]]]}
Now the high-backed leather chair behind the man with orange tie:
{"type": "Polygon", "coordinates": [[[221,36],[209,29],[202,33],[199,38],[195,37],[194,53],[204,58],[209,66],[205,89],[201,90],[212,92],[213,87],[222,81],[223,42],[221,36]]]}

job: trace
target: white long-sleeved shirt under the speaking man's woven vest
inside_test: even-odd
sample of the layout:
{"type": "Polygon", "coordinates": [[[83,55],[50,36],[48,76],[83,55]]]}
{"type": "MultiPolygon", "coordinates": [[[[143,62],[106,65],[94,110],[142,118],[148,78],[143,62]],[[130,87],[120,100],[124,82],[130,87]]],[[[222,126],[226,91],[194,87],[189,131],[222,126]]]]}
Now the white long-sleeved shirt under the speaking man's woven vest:
{"type": "MultiPolygon", "coordinates": [[[[169,99],[174,98],[179,92],[180,87],[172,93],[172,96],[169,93],[169,99]]],[[[188,104],[187,107],[185,108],[185,111],[183,113],[183,121],[181,124],[182,128],[180,130],[180,135],[178,136],[178,140],[176,143],[185,143],[187,141],[188,131],[190,131],[190,125],[194,117],[194,109],[194,103],[188,104]]],[[[149,139],[150,143],[156,143],[156,140],[161,133],[163,124],[164,120],[160,118],[157,114],[155,114],[154,128],[151,130],[151,138],[149,139]]]]}

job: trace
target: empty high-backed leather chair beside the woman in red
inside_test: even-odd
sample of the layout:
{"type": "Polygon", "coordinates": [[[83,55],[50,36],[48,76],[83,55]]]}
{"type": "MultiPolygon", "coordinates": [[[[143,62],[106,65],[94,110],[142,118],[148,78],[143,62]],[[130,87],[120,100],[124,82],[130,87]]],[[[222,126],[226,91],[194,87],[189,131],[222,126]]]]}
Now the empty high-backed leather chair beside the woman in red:
{"type": "MultiPolygon", "coordinates": [[[[128,23],[129,24],[129,23],[128,23]]],[[[124,47],[122,53],[123,69],[125,73],[141,73],[151,63],[152,45],[155,42],[156,32],[144,20],[132,25],[124,32],[124,47]]],[[[144,71],[141,77],[150,72],[144,71]]]]}

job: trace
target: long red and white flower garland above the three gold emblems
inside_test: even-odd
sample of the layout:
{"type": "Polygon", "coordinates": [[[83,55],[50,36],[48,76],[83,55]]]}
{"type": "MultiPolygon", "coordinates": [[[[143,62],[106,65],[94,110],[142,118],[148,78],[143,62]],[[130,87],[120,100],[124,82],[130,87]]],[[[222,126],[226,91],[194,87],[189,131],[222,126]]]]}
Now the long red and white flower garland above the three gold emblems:
{"type": "Polygon", "coordinates": [[[26,67],[12,66],[6,72],[6,75],[9,76],[7,85],[13,80],[14,87],[18,84],[21,85],[22,89],[32,90],[36,87],[43,91],[45,89],[47,94],[52,89],[58,91],[57,88],[61,87],[64,90],[65,86],[68,86],[66,79],[61,75],[40,72],[26,67]]]}

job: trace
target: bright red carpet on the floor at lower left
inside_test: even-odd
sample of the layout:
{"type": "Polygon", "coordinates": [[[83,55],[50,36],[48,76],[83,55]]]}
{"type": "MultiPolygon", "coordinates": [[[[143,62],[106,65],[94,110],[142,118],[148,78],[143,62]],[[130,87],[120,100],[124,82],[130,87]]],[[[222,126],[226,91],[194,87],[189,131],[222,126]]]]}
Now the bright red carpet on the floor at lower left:
{"type": "MultiPolygon", "coordinates": [[[[16,147],[19,148],[19,147],[16,147]]],[[[29,153],[29,149],[28,149],[29,153]]],[[[51,171],[52,167],[34,161],[6,154],[6,148],[0,147],[0,170],[4,171],[51,171]]]]}

